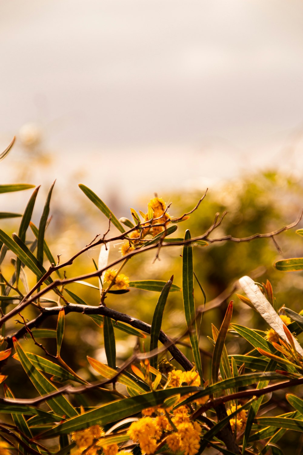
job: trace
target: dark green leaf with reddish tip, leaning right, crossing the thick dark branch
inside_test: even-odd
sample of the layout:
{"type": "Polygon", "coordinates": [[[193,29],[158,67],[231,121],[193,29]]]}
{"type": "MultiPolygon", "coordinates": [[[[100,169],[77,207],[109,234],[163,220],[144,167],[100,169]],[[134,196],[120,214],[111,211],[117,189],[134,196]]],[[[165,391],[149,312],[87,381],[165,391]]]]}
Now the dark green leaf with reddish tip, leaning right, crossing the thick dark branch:
{"type": "MultiPolygon", "coordinates": [[[[158,348],[158,340],[159,340],[159,334],[161,330],[161,325],[162,325],[162,318],[163,318],[163,313],[164,313],[164,308],[165,308],[165,303],[167,300],[167,297],[169,295],[169,289],[173,283],[174,275],[169,279],[169,281],[164,284],[164,288],[162,289],[159,299],[156,305],[156,308],[154,309],[154,316],[150,328],[150,345],[149,345],[149,350],[153,351],[154,349],[158,348]]],[[[154,355],[154,357],[151,357],[150,359],[150,364],[152,367],[157,368],[158,364],[158,354],[154,355]]]]}

